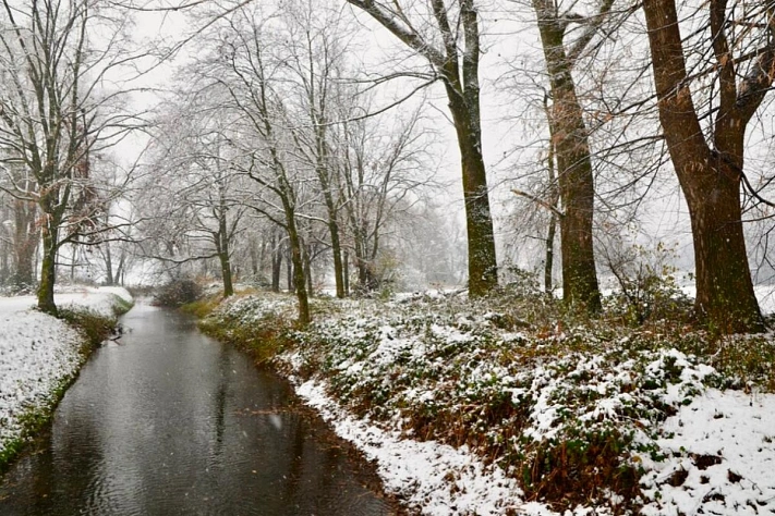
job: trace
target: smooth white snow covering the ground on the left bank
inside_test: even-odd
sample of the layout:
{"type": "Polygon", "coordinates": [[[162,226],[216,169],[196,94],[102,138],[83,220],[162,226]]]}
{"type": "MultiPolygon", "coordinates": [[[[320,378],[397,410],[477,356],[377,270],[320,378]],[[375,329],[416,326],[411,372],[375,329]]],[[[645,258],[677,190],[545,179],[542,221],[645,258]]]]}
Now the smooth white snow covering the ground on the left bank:
{"type": "MultiPolygon", "coordinates": [[[[78,287],[57,293],[59,307],[78,306],[113,315],[121,287],[78,287]]],[[[52,391],[81,366],[83,337],[64,321],[33,308],[34,296],[0,297],[0,454],[20,438],[20,416],[50,403],[52,391]]]]}

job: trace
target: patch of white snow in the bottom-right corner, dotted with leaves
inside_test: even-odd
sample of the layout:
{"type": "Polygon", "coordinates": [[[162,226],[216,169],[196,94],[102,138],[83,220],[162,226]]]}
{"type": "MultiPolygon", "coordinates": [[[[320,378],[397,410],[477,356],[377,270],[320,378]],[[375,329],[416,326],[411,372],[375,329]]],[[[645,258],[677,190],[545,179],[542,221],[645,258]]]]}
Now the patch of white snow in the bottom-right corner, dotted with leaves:
{"type": "Polygon", "coordinates": [[[709,390],[659,431],[668,458],[641,480],[643,515],[775,512],[775,395],[709,390]]]}

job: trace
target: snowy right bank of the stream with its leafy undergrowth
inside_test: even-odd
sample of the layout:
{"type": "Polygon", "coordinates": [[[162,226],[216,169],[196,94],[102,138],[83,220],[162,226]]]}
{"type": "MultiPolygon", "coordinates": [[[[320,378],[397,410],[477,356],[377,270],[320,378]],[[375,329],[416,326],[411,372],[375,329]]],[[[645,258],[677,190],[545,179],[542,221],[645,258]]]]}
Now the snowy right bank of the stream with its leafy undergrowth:
{"type": "Polygon", "coordinates": [[[773,335],[584,325],[535,303],[316,303],[317,322],[284,337],[271,327],[290,298],[210,320],[287,346],[276,364],[300,396],[413,513],[775,511],[773,335]]]}

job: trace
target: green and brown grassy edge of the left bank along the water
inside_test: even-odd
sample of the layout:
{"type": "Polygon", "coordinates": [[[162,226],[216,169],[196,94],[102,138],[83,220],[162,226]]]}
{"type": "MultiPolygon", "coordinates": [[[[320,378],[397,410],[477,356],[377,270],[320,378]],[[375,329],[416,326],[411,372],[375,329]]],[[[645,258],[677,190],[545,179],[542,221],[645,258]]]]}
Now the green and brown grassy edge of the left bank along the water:
{"type": "Polygon", "coordinates": [[[110,337],[118,328],[119,317],[126,314],[134,306],[134,300],[129,302],[117,294],[109,294],[112,303],[112,316],[106,316],[94,309],[69,305],[60,308],[58,319],[73,328],[81,335],[78,346],[78,361],[75,369],[59,379],[55,388],[49,391],[41,403],[31,406],[20,416],[22,429],[15,439],[0,443],[0,475],[4,474],[11,465],[27,450],[40,431],[50,423],[57,406],[64,397],[73,383],[78,379],[81,369],[88,361],[92,354],[99,345],[110,337]]]}

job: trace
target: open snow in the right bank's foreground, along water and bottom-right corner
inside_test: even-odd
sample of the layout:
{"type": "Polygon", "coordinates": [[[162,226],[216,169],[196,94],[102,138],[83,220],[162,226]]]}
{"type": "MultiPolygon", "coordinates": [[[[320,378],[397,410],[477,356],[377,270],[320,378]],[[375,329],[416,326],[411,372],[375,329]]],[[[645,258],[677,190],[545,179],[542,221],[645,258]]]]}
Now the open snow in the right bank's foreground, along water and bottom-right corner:
{"type": "MultiPolygon", "coordinates": [[[[296,393],[377,464],[388,492],[425,515],[609,515],[607,507],[577,506],[556,513],[524,502],[513,478],[486,466],[465,446],[407,439],[358,418],[308,380],[296,393]]],[[[604,405],[605,403],[601,403],[604,405]]],[[[545,407],[557,410],[564,407],[545,407]]],[[[658,429],[664,459],[638,457],[645,468],[640,514],[775,514],[775,395],[710,389],[658,429]]]]}

